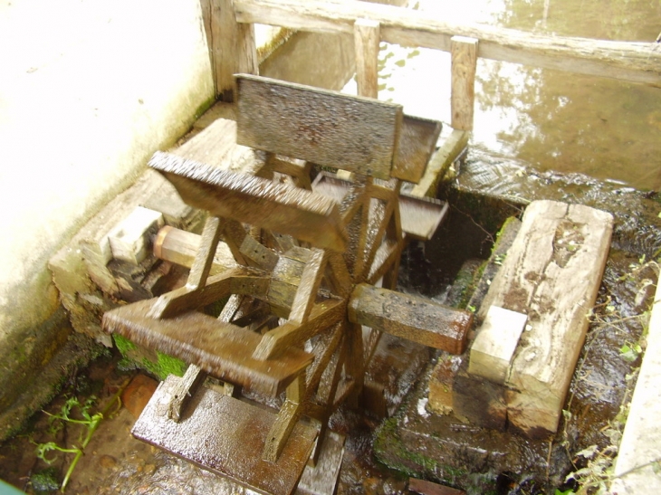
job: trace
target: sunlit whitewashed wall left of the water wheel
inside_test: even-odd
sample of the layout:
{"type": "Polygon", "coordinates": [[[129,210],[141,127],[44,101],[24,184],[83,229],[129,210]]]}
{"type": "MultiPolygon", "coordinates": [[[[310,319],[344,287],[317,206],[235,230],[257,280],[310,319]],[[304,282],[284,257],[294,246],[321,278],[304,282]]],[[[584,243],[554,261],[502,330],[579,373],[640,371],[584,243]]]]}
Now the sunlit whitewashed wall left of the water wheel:
{"type": "Polygon", "coordinates": [[[47,261],[213,82],[196,1],[0,0],[0,411],[67,337],[47,261]]]}

